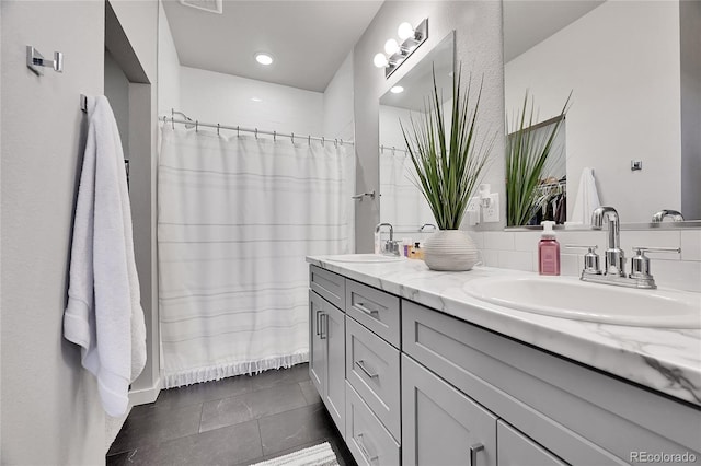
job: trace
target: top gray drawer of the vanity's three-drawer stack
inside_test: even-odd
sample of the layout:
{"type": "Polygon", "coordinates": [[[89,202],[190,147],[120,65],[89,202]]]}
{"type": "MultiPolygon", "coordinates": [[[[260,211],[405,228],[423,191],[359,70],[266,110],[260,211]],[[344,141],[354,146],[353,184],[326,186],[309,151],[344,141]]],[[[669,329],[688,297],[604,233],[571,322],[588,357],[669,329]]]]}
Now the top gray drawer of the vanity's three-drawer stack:
{"type": "Polygon", "coordinates": [[[399,298],[347,280],[346,314],[399,348],[399,298]]]}

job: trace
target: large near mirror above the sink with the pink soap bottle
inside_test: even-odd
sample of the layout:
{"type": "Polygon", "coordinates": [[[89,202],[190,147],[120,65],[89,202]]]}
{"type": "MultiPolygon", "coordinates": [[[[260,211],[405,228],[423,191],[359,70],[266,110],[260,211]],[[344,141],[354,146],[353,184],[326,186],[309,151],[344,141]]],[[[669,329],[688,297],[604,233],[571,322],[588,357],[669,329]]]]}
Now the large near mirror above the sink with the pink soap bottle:
{"type": "Polygon", "coordinates": [[[585,168],[622,222],[701,219],[700,24],[697,1],[504,2],[507,119],[528,91],[533,123],[552,121],[572,92],[562,173],[543,190],[565,202],[563,220],[585,168]]]}

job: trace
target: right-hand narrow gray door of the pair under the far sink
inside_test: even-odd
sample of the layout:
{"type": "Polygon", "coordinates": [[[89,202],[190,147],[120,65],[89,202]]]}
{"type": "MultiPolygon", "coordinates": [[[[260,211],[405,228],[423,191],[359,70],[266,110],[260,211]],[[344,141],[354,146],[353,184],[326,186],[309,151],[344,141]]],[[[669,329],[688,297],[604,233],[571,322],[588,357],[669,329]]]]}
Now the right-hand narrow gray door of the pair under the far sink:
{"type": "Polygon", "coordinates": [[[345,436],[345,318],[341,311],[327,302],[323,306],[321,334],[326,343],[326,393],[322,398],[341,435],[345,436]]]}

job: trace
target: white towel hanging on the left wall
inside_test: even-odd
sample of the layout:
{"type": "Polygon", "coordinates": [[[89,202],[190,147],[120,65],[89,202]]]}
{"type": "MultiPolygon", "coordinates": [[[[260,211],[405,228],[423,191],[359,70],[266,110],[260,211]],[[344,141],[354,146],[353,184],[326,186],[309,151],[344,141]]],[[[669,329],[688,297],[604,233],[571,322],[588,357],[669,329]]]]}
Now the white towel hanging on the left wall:
{"type": "Polygon", "coordinates": [[[82,347],[82,365],[116,417],[146,364],[146,327],[122,141],[106,97],[88,97],[88,118],[64,336],[82,347]]]}

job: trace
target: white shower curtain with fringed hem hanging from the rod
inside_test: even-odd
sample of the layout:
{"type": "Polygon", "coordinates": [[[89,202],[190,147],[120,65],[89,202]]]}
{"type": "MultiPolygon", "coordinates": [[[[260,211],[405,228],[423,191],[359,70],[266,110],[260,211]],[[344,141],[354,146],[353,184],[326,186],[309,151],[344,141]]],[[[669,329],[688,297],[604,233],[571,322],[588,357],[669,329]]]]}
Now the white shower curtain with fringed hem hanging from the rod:
{"type": "Polygon", "coordinates": [[[353,151],[164,125],[165,387],[309,359],[307,255],[353,252],[353,151]]]}

